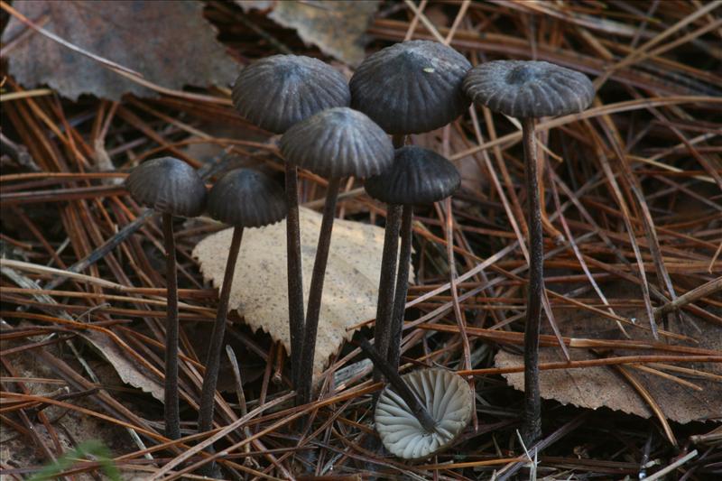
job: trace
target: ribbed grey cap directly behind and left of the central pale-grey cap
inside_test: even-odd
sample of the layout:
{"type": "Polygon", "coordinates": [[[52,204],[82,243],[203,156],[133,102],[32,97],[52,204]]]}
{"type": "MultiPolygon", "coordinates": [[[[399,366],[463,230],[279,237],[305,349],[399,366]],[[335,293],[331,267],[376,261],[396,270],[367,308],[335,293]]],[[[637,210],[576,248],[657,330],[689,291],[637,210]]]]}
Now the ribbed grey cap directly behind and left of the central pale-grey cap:
{"type": "Polygon", "coordinates": [[[321,60],[273,55],[241,70],[233,86],[241,116],[274,134],[334,106],[348,106],[346,78],[321,60]]]}

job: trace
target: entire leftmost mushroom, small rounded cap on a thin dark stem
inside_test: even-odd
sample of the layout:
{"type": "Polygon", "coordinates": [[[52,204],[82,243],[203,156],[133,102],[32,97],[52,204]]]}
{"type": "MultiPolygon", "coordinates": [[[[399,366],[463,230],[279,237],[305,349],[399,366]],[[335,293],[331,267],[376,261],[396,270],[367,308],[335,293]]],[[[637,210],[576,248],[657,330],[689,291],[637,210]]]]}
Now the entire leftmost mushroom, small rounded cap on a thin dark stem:
{"type": "Polygon", "coordinates": [[[173,216],[197,217],[206,202],[206,186],[186,162],[162,157],[143,162],[125,180],[136,202],[162,213],[168,288],[165,328],[165,435],[180,438],[178,397],[178,279],[175,267],[173,216]]]}

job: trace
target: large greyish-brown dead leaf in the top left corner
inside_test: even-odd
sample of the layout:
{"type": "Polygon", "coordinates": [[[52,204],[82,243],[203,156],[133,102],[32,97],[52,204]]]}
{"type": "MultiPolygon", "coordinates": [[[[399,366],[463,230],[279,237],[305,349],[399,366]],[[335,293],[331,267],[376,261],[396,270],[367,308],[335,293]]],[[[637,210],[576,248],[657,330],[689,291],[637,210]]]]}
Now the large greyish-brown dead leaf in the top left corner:
{"type": "MultiPolygon", "coordinates": [[[[63,40],[165,88],[228,85],[236,74],[235,61],[216,40],[216,30],[203,18],[199,2],[30,0],[15,2],[14,8],[63,40]]],[[[26,29],[11,17],[3,42],[26,29]]],[[[20,41],[8,59],[10,74],[26,88],[47,84],[73,100],[82,94],[112,100],[125,93],[154,95],[37,32],[20,41]]]]}

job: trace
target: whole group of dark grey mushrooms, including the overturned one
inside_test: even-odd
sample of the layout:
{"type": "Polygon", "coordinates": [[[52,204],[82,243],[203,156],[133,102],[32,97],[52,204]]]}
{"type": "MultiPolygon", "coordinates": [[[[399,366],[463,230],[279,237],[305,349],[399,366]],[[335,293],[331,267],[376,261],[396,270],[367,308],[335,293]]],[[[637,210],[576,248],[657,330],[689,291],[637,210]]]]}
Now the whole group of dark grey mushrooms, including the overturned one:
{"type": "Polygon", "coordinates": [[[245,228],[286,218],[288,321],[292,384],[297,402],[312,399],[312,366],[324,276],[341,180],[366,180],[366,193],[386,204],[384,251],[376,306],[375,346],[360,343],[375,365],[375,378],[390,383],[375,411],[386,449],[421,459],[449,447],[474,412],[467,381],[441,369],[398,374],[403,319],[412,260],[413,208],[449,198],[458,189],[456,167],[439,153],[409,143],[461,116],[472,101],[514,116],[523,126],[528,199],[529,297],[525,328],[525,437],[541,434],[538,346],[543,295],[542,227],[534,128],[542,116],[579,112],[594,97],[586,76],[547,62],[496,60],[472,69],[468,60],[438,42],[397,43],[375,52],[349,82],[338,70],[309,57],[275,55],[243,69],[233,103],[246,120],[282,134],[285,190],[257,171],[239,169],[220,178],[207,195],[185,162],[144,162],[128,177],[134,199],[162,213],[167,254],[165,421],[180,437],[178,406],[178,296],[172,217],[210,217],[234,228],[211,337],[199,407],[200,431],[212,428],[214,397],[228,298],[245,228]],[[328,180],[319,244],[304,313],[299,225],[299,172],[328,180]],[[401,247],[399,248],[401,236],[401,247]]]}

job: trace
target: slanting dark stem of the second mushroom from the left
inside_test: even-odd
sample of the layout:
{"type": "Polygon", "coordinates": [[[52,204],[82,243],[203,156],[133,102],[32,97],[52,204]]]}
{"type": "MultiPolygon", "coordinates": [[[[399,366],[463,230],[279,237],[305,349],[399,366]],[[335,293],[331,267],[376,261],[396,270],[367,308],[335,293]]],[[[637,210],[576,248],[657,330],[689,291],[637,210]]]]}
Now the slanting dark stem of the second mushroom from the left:
{"type": "Polygon", "coordinates": [[[206,373],[203,375],[203,388],[200,393],[200,410],[198,417],[199,432],[210,430],[213,425],[213,411],[215,407],[216,385],[218,384],[218,371],[220,368],[220,355],[223,349],[223,337],[226,333],[226,319],[228,316],[228,300],[231,297],[233,274],[236,272],[236,260],[241,248],[243,227],[233,229],[233,238],[226,261],[226,273],[223,276],[223,286],[220,290],[216,322],[213,325],[213,334],[210,337],[210,347],[206,357],[206,373]]]}

